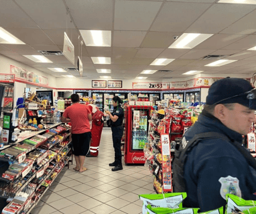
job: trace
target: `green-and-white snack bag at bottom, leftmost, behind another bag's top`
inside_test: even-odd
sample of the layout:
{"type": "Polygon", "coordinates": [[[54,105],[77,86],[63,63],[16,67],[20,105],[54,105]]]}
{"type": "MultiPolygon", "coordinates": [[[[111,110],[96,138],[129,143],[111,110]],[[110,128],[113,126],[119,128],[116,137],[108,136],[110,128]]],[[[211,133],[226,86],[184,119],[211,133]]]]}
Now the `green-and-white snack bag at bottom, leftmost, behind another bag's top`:
{"type": "Polygon", "coordinates": [[[142,214],[147,213],[147,205],[152,207],[182,208],[182,201],[186,198],[186,192],[167,194],[144,194],[139,195],[143,200],[142,214]]]}

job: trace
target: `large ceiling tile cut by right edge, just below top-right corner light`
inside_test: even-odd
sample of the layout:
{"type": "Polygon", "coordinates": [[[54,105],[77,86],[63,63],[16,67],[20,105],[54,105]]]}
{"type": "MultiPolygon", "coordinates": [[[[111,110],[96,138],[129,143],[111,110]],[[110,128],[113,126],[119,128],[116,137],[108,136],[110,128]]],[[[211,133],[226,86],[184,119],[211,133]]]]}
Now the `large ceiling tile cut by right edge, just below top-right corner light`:
{"type": "Polygon", "coordinates": [[[222,30],[221,33],[238,33],[238,34],[251,34],[256,31],[256,11],[252,11],[242,19],[238,20],[234,24],[230,25],[226,29],[222,30]]]}

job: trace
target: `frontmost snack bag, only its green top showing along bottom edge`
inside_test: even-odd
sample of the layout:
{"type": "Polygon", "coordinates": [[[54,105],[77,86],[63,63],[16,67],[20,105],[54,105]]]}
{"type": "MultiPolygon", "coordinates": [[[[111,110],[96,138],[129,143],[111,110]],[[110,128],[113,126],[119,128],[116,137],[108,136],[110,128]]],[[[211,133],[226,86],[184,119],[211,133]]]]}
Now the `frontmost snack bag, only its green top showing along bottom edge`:
{"type": "Polygon", "coordinates": [[[163,208],[163,207],[157,207],[152,208],[151,205],[147,205],[147,214],[170,214],[170,213],[176,213],[176,214],[197,214],[199,208],[163,208]]]}

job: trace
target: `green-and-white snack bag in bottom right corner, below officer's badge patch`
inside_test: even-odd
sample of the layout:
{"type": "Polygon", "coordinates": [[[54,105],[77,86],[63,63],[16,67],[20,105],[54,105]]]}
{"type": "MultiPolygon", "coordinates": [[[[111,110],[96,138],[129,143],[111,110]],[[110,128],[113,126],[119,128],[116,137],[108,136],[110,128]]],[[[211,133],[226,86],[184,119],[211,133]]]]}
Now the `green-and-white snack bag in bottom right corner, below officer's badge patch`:
{"type": "Polygon", "coordinates": [[[244,210],[249,210],[250,208],[255,207],[256,201],[254,200],[244,200],[236,195],[227,194],[227,205],[226,205],[226,214],[232,212],[243,212],[244,210]]]}

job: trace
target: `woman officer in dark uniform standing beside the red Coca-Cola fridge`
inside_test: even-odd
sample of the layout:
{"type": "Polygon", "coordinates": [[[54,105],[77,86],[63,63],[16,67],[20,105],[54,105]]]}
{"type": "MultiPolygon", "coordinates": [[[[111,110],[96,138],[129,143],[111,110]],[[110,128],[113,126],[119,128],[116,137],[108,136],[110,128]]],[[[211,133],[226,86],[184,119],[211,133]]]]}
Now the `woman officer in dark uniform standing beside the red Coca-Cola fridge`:
{"type": "Polygon", "coordinates": [[[109,166],[114,166],[112,171],[122,170],[122,152],[121,152],[121,139],[124,129],[122,127],[122,121],[124,120],[124,110],[121,108],[122,100],[118,96],[114,96],[112,99],[114,111],[112,114],[106,111],[111,120],[111,130],[113,146],[115,150],[115,161],[110,163],[109,166]]]}

